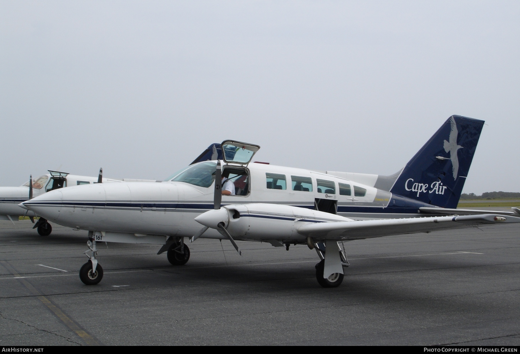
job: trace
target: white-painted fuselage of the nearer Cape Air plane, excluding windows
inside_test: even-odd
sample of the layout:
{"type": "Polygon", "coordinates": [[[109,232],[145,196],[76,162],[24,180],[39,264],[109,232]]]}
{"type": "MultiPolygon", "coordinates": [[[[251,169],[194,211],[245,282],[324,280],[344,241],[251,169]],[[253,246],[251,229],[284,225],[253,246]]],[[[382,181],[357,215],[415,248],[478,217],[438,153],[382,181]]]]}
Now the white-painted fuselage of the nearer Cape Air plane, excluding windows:
{"type": "MultiPolygon", "coordinates": [[[[229,165],[228,165],[229,167],[229,165]]],[[[224,166],[224,169],[226,166],[224,166]]],[[[269,203],[314,209],[317,199],[335,200],[337,208],[379,208],[383,210],[391,193],[327,173],[265,164],[249,164],[246,169],[250,188],[245,196],[222,196],[223,205],[269,203]],[[267,174],[285,176],[285,189],[272,189],[267,174]],[[293,179],[310,178],[312,188],[293,190],[293,179]],[[320,188],[317,180],[327,181],[335,188],[320,188]],[[339,183],[349,185],[350,195],[339,193],[339,183]],[[312,189],[312,190],[310,190],[312,189]],[[334,193],[332,193],[332,190],[334,193]],[[355,195],[354,190],[365,191],[355,195]],[[324,193],[329,192],[329,193],[324,193]],[[361,194],[363,194],[361,196],[361,194]]],[[[282,186],[283,187],[283,186],[282,186]]],[[[125,233],[142,237],[164,235],[191,237],[201,225],[194,217],[213,209],[214,183],[201,187],[185,182],[90,184],[53,190],[25,203],[37,215],[72,228],[125,233]]],[[[348,213],[318,213],[328,219],[344,220],[348,213]]],[[[362,215],[362,213],[355,213],[362,215]]],[[[408,215],[400,215],[407,217],[408,215]]],[[[320,216],[323,217],[323,216],[320,216]]],[[[394,217],[393,214],[379,217],[394,217]]],[[[370,219],[370,217],[366,217],[370,219]]],[[[354,218],[355,219],[355,218],[354,218]]],[[[363,217],[358,217],[363,219],[363,217]]],[[[222,238],[216,230],[203,237],[222,238]]],[[[142,238],[145,240],[145,238],[142,238]]],[[[155,243],[155,242],[154,242],[155,243]]]]}

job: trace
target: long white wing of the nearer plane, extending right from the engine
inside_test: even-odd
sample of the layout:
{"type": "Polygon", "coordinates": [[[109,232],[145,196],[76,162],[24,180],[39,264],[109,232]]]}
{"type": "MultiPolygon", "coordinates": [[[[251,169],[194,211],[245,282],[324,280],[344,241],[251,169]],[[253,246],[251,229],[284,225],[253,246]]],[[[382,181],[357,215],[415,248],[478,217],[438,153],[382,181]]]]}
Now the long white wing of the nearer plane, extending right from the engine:
{"type": "Polygon", "coordinates": [[[298,228],[298,233],[314,239],[341,241],[504,223],[520,223],[520,217],[482,214],[312,223],[298,228]]]}

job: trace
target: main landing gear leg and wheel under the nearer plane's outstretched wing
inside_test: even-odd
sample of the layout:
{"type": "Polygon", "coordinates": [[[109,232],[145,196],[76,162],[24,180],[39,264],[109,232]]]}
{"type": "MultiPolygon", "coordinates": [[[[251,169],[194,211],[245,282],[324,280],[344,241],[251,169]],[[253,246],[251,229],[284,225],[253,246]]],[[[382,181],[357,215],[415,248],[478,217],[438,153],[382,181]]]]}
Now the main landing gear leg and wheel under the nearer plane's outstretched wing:
{"type": "Polygon", "coordinates": [[[314,246],[313,248],[316,249],[316,253],[321,259],[315,267],[316,280],[323,288],[336,288],[343,281],[343,267],[348,267],[349,264],[344,247],[341,249],[336,241],[326,241],[326,243],[314,243],[311,240],[307,242],[314,246]],[[330,249],[329,254],[326,253],[327,249],[330,249]]]}

